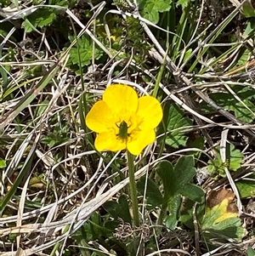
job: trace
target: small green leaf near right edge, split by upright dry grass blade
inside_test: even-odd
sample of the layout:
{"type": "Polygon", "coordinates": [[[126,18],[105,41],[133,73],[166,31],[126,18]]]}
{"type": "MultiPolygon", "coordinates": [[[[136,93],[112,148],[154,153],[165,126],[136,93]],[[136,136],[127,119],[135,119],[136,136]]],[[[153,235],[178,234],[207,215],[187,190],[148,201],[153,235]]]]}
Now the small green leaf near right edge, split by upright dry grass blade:
{"type": "Polygon", "coordinates": [[[226,162],[222,162],[220,152],[219,152],[219,146],[215,148],[216,156],[215,159],[208,161],[208,171],[218,174],[222,177],[225,177],[225,171],[224,168],[229,168],[229,170],[236,171],[238,168],[241,168],[241,161],[243,158],[243,154],[240,150],[235,149],[235,145],[228,144],[227,145],[227,154],[229,155],[229,158],[227,157],[226,162]]]}

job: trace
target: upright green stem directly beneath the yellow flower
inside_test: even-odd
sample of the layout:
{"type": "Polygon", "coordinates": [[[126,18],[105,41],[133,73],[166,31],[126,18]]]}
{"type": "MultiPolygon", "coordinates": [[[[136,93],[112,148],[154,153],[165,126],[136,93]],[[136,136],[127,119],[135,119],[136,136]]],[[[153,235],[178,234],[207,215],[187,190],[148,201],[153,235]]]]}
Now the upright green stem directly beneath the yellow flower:
{"type": "Polygon", "coordinates": [[[134,179],[133,161],[134,161],[133,155],[130,152],[127,151],[127,166],[128,166],[128,175],[129,175],[129,187],[130,187],[130,194],[131,194],[132,208],[133,208],[133,224],[135,226],[139,226],[139,208],[138,208],[136,184],[135,184],[135,179],[134,179]]]}

